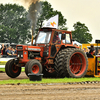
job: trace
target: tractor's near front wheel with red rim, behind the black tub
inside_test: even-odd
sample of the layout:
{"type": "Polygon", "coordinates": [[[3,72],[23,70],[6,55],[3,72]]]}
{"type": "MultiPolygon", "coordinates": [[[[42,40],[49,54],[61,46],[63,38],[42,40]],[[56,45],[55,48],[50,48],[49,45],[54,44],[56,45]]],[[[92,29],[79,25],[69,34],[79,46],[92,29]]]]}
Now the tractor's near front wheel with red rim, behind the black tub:
{"type": "Polygon", "coordinates": [[[29,62],[28,74],[29,73],[32,73],[32,74],[41,74],[42,73],[42,65],[38,60],[34,59],[29,62]]]}

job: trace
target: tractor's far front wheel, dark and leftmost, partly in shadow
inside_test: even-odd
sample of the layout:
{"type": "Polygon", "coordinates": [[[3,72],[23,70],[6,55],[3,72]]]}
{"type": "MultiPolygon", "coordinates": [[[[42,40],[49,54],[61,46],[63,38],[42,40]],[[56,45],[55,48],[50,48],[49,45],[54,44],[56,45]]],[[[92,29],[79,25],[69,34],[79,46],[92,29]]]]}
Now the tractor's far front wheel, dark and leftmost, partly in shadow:
{"type": "Polygon", "coordinates": [[[21,67],[14,64],[13,59],[9,60],[5,65],[6,74],[11,78],[16,78],[21,73],[21,67]]]}

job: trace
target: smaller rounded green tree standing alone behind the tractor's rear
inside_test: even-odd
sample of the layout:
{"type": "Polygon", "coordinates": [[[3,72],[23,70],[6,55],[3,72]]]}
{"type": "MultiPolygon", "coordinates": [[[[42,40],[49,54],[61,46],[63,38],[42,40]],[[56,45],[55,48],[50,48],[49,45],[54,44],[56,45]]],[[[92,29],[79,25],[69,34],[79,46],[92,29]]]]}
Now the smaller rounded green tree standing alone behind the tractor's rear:
{"type": "Polygon", "coordinates": [[[92,34],[85,24],[77,22],[73,25],[74,31],[72,31],[72,38],[80,43],[89,43],[92,41],[92,34]]]}

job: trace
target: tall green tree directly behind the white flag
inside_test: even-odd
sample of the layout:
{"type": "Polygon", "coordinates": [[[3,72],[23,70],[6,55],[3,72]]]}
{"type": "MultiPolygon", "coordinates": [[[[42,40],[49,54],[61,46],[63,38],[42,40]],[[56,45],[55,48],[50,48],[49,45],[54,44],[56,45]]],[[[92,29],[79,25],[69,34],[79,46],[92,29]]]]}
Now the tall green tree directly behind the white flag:
{"type": "Polygon", "coordinates": [[[36,33],[38,31],[38,29],[41,26],[41,21],[45,21],[48,20],[49,18],[55,16],[55,15],[59,15],[59,29],[66,29],[66,21],[67,19],[64,18],[64,16],[62,15],[62,13],[60,11],[57,10],[53,10],[53,8],[51,7],[51,4],[48,3],[47,1],[41,1],[41,12],[38,14],[39,18],[37,20],[37,25],[36,25],[36,33]]]}

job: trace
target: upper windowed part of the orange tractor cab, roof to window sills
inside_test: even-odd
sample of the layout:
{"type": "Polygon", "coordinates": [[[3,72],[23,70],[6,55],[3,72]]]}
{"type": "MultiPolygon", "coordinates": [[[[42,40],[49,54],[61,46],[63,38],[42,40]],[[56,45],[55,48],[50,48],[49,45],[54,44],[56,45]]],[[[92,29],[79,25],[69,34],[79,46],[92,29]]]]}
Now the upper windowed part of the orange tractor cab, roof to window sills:
{"type": "Polygon", "coordinates": [[[71,44],[71,32],[57,29],[42,28],[36,38],[36,44],[71,44]],[[57,42],[58,40],[58,42],[57,42]]]}

